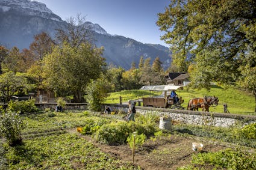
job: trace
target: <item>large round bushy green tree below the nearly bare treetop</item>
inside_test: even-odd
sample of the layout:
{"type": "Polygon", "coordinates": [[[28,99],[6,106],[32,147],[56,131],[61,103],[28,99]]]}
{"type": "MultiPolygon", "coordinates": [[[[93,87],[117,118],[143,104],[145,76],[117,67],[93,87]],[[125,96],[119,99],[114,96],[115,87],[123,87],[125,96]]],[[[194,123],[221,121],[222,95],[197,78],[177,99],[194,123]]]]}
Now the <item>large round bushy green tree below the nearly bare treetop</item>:
{"type": "Polygon", "coordinates": [[[90,43],[72,47],[67,43],[56,46],[43,58],[46,84],[59,96],[73,95],[75,102],[83,102],[87,84],[97,79],[105,67],[102,50],[90,43]]]}

